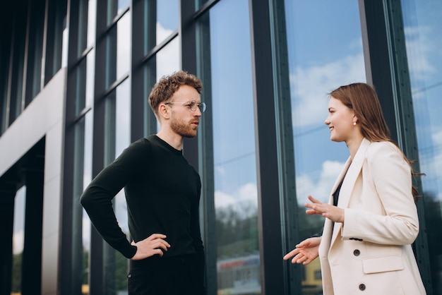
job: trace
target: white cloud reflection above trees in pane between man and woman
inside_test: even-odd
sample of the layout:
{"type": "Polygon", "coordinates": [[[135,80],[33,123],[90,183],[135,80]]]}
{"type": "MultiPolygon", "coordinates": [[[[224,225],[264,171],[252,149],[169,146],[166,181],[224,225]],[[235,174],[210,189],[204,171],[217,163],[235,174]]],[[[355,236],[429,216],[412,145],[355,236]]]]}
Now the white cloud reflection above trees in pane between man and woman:
{"type": "Polygon", "coordinates": [[[258,189],[255,183],[246,183],[233,194],[215,191],[215,207],[226,208],[235,207],[235,209],[249,210],[250,206],[256,207],[258,202],[258,189]]]}

